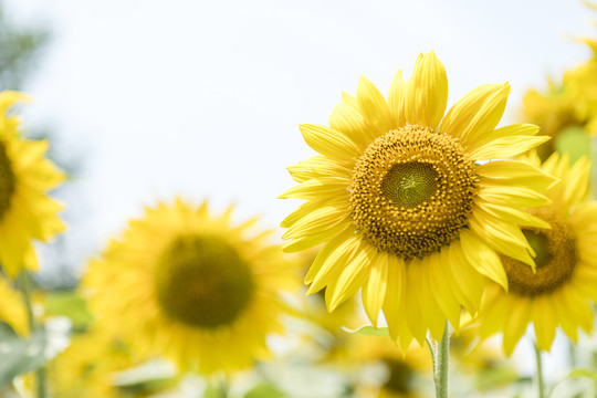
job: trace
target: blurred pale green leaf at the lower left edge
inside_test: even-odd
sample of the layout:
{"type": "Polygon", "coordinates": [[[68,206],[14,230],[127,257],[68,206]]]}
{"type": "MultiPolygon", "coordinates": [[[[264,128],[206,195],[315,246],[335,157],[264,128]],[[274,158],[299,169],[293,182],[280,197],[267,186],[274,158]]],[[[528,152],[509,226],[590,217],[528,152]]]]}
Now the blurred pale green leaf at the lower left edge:
{"type": "Polygon", "coordinates": [[[45,329],[39,328],[22,339],[7,324],[0,324],[0,388],[15,376],[35,370],[45,364],[45,329]]]}

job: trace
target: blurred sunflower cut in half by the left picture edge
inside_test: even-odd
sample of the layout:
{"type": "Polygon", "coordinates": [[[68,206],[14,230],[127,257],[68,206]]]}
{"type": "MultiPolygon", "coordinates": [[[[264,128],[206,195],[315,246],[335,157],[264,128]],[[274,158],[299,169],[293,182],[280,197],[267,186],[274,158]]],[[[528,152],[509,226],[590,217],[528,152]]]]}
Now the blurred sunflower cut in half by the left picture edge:
{"type": "Polygon", "coordinates": [[[36,271],[32,239],[45,242],[64,230],[57,218],[62,206],[45,195],[64,175],[43,158],[46,140],[20,136],[18,117],[7,114],[19,101],[27,97],[0,93],[0,264],[12,277],[23,268],[36,271]]]}

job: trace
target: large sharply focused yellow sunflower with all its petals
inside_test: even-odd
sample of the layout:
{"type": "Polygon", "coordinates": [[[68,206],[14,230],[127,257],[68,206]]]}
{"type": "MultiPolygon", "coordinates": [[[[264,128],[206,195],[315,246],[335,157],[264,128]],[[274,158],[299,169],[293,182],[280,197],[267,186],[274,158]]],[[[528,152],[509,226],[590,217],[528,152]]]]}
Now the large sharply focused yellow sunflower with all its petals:
{"type": "Polygon", "coordinates": [[[461,305],[475,313],[483,275],[506,287],[496,251],[531,269],[519,224],[544,227],[523,208],[544,206],[554,179],[506,158],[542,144],[538,127],[495,129],[510,86],[468,93],[443,116],[448,81],[433,52],[413,72],[398,71],[388,100],[365,77],[357,95],[343,94],[331,127],[301,125],[320,156],[289,168],[300,182],[281,198],[306,199],[282,221],[285,251],[324,243],[305,282],[326,287],[334,310],[363,287],[371,323],[384,311],[392,338],[440,339],[446,320],[458,327],[461,305]]]}

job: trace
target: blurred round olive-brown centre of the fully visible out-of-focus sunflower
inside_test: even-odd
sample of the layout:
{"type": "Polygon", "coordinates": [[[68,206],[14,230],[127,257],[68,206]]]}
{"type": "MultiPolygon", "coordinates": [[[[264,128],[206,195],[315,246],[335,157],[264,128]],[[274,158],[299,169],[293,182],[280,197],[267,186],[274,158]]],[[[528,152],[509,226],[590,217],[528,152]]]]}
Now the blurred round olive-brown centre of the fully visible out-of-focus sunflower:
{"type": "Polygon", "coordinates": [[[172,320],[214,328],[232,323],[255,289],[249,264],[224,240],[181,235],[161,253],[157,301],[172,320]]]}

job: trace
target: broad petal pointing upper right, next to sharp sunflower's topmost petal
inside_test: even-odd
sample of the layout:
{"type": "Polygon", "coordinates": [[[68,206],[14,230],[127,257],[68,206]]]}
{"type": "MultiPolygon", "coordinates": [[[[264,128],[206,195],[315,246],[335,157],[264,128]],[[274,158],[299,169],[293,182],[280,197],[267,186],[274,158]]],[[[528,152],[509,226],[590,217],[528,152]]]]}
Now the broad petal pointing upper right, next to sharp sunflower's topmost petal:
{"type": "Polygon", "coordinates": [[[474,143],[495,128],[509,94],[507,83],[485,84],[470,91],[448,111],[440,132],[460,138],[464,146],[474,143]]]}

